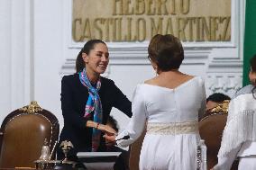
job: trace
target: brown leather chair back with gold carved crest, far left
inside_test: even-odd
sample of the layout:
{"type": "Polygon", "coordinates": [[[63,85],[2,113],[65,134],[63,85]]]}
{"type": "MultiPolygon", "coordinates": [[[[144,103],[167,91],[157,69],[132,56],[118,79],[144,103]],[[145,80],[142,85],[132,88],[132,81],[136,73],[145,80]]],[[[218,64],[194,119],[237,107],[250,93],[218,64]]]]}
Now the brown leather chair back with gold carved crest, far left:
{"type": "MultiPolygon", "coordinates": [[[[0,131],[0,168],[34,167],[44,139],[51,151],[58,138],[58,119],[36,102],[11,112],[0,131]]],[[[54,158],[54,152],[52,155],[54,158]]]]}

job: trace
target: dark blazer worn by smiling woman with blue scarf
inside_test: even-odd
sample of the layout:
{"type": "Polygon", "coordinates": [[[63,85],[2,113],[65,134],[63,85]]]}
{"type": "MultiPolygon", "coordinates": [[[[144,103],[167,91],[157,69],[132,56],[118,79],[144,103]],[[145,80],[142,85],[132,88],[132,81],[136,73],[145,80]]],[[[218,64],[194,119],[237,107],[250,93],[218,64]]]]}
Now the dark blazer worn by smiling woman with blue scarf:
{"type": "MultiPolygon", "coordinates": [[[[103,109],[103,124],[106,123],[112,107],[132,117],[132,103],[114,85],[114,81],[101,77],[99,96],[103,109]]],[[[64,127],[60,133],[59,142],[63,140],[71,141],[74,145],[74,154],[91,150],[92,128],[86,127],[88,120],[83,117],[87,98],[87,87],[81,84],[78,74],[63,76],[61,81],[61,109],[64,127]]],[[[93,116],[91,116],[92,118],[93,116]]],[[[102,138],[98,151],[104,150],[105,140],[102,138]]]]}

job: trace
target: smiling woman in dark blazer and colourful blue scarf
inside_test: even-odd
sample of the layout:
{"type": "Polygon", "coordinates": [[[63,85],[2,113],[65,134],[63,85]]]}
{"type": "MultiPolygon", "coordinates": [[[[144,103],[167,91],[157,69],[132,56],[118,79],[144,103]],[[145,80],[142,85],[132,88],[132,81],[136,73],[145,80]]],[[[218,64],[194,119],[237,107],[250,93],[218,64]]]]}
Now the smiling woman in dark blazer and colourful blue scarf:
{"type": "MultiPolygon", "coordinates": [[[[64,127],[59,143],[72,142],[69,157],[76,160],[78,152],[105,151],[103,133],[113,134],[105,126],[112,107],[132,117],[132,104],[114,81],[100,76],[109,62],[109,53],[102,40],[88,40],[78,54],[77,73],[63,76],[61,81],[61,109],[64,127]]],[[[58,159],[64,157],[61,149],[58,159]]]]}

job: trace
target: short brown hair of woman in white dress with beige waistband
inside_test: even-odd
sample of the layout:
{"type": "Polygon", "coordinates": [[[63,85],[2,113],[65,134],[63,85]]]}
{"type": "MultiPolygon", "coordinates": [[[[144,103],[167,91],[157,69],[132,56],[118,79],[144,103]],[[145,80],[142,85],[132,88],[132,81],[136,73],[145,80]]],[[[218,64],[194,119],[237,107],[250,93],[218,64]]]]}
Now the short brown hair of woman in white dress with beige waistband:
{"type": "Polygon", "coordinates": [[[155,62],[161,71],[178,69],[184,59],[184,50],[177,37],[166,35],[155,35],[150,42],[149,58],[155,62]]]}

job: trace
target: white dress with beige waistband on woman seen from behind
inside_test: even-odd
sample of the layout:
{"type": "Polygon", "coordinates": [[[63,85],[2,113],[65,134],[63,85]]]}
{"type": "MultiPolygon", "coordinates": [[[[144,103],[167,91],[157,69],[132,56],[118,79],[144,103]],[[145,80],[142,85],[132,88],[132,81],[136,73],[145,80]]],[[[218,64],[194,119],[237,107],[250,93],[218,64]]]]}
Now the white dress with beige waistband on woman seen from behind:
{"type": "Polygon", "coordinates": [[[196,76],[174,89],[137,85],[133,94],[133,117],[116,139],[127,147],[138,139],[147,121],[140,156],[141,170],[194,170],[199,140],[198,114],[206,109],[206,90],[196,76]],[[196,124],[195,124],[196,122],[196,124]],[[193,124],[192,128],[189,124],[193,124]],[[178,127],[178,128],[175,128],[178,127]],[[195,128],[196,127],[196,128],[195,128]]]}

